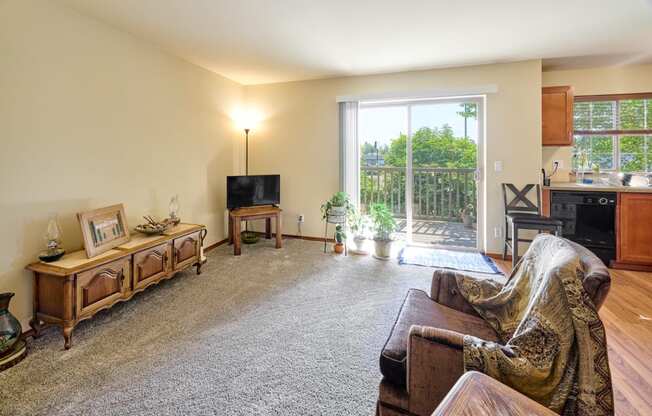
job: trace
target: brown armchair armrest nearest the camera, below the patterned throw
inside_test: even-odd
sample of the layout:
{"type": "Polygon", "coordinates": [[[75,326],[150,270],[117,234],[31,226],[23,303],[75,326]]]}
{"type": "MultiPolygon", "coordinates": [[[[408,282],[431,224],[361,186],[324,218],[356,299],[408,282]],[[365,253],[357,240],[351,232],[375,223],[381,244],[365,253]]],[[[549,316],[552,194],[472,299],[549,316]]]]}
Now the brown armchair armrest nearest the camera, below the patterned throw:
{"type": "Polygon", "coordinates": [[[464,373],[464,335],[413,325],[407,346],[408,407],[411,414],[431,414],[464,373]]]}

